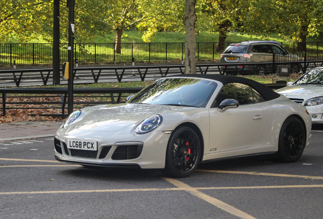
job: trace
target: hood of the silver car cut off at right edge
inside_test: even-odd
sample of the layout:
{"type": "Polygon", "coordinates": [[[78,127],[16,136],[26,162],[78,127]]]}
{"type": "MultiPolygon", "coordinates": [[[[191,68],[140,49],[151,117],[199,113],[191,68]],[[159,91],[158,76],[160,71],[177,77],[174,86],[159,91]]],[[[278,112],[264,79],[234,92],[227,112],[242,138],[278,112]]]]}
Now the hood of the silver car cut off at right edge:
{"type": "Polygon", "coordinates": [[[293,85],[276,90],[288,98],[304,99],[305,101],[318,96],[323,96],[323,86],[293,85]]]}

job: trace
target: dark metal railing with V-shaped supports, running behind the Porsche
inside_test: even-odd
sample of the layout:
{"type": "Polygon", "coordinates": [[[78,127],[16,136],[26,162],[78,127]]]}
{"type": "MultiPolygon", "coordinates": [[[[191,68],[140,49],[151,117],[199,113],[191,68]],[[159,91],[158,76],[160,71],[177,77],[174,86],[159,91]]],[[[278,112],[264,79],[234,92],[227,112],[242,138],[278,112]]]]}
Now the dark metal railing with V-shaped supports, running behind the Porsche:
{"type": "MultiPolygon", "coordinates": [[[[275,74],[277,65],[288,65],[292,72],[302,73],[313,67],[323,65],[323,60],[308,60],[304,54],[304,60],[300,59],[298,61],[197,64],[197,74],[275,74]]],[[[149,81],[169,75],[184,74],[184,70],[184,64],[75,67],[73,77],[74,84],[149,81]]],[[[67,80],[60,81],[61,85],[67,83],[67,80]]],[[[52,84],[52,68],[0,70],[0,87],[52,84]]]]}

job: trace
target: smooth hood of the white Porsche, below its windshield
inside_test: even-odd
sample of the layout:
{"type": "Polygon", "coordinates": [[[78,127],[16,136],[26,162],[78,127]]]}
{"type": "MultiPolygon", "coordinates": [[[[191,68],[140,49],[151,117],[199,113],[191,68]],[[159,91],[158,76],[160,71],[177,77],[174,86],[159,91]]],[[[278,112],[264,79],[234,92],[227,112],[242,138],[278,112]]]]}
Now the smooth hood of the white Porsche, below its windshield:
{"type": "Polygon", "coordinates": [[[89,131],[118,131],[150,116],[163,115],[178,109],[183,107],[136,103],[106,105],[85,114],[74,124],[74,128],[89,131]]]}

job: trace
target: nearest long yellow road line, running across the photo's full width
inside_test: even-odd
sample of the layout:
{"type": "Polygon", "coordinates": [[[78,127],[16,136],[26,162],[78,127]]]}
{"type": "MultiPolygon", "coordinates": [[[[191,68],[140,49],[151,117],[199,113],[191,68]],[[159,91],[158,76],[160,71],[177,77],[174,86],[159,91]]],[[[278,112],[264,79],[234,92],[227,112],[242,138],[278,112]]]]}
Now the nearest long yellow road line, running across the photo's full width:
{"type": "Polygon", "coordinates": [[[58,193],[104,193],[104,192],[149,192],[149,191],[195,191],[195,190],[233,190],[233,189],[293,189],[293,188],[323,188],[323,185],[290,185],[290,186],[259,186],[259,187],[177,187],[150,189],[111,189],[111,190],[69,190],[69,191],[34,191],[34,192],[0,192],[0,195],[21,194],[58,194],[58,193]]]}

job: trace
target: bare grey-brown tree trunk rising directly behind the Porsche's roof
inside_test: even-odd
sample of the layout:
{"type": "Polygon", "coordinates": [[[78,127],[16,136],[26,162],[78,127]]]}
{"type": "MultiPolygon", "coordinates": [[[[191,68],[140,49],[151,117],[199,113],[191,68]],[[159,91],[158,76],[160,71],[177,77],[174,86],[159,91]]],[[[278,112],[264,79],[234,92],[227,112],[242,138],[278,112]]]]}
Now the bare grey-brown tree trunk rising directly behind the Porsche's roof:
{"type": "Polygon", "coordinates": [[[196,0],[185,0],[185,74],[196,74],[195,4],[196,0]]]}

